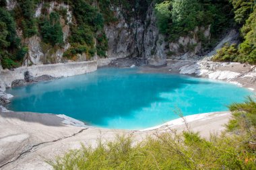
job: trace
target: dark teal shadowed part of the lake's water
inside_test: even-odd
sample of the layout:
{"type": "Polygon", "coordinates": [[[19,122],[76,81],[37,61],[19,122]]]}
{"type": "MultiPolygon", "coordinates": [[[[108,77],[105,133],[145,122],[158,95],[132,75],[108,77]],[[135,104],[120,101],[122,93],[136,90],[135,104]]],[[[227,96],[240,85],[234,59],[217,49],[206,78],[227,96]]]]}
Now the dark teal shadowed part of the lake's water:
{"type": "Polygon", "coordinates": [[[137,74],[135,69],[101,69],[44,83],[18,87],[7,108],[15,111],[66,114],[89,124],[106,118],[127,117],[152,102],[164,102],[160,93],[207,81],[180,79],[174,75],[137,74]]]}

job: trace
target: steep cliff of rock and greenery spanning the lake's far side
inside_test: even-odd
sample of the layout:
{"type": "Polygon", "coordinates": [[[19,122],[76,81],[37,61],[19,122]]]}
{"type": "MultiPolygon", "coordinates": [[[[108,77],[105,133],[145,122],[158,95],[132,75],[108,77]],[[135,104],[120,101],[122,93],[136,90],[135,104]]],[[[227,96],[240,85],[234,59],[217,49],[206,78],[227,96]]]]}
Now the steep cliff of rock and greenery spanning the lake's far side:
{"type": "Polygon", "coordinates": [[[97,58],[206,54],[234,26],[232,4],[195,0],[7,0],[0,3],[3,69],[97,58]]]}

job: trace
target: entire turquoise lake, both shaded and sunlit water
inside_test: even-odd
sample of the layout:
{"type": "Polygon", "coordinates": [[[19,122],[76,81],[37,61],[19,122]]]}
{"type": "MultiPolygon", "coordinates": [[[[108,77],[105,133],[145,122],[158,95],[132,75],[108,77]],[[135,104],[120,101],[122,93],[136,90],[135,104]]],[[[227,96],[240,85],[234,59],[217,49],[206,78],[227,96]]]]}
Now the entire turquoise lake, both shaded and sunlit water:
{"type": "Polygon", "coordinates": [[[218,81],[138,69],[99,69],[7,90],[9,110],[65,114],[92,126],[141,129],[184,116],[226,111],[252,92],[218,81]]]}

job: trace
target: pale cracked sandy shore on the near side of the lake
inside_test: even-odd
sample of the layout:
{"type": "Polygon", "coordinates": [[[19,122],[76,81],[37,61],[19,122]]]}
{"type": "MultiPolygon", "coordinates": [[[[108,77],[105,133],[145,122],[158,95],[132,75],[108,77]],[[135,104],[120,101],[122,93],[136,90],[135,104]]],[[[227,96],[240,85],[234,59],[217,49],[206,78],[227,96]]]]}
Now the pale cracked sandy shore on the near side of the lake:
{"type": "MultiPolygon", "coordinates": [[[[189,127],[207,138],[224,130],[229,112],[185,117],[189,127]]],[[[68,125],[65,118],[52,114],[9,112],[0,114],[0,169],[52,169],[45,161],[63,155],[81,143],[96,146],[97,140],[113,140],[117,134],[132,135],[135,142],[155,132],[185,130],[182,119],[172,120],[148,130],[110,130],[68,125]]],[[[71,121],[72,122],[72,121],[71,121]]]]}

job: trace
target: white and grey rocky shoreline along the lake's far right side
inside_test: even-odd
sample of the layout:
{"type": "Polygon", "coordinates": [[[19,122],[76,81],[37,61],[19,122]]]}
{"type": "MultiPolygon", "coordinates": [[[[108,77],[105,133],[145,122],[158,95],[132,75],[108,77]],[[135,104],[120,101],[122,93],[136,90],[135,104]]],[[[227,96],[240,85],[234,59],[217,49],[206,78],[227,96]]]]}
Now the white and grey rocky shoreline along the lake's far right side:
{"type": "Polygon", "coordinates": [[[256,90],[256,66],[238,62],[212,62],[205,60],[167,60],[163,67],[144,66],[141,73],[170,73],[201,77],[232,83],[256,90]]]}

